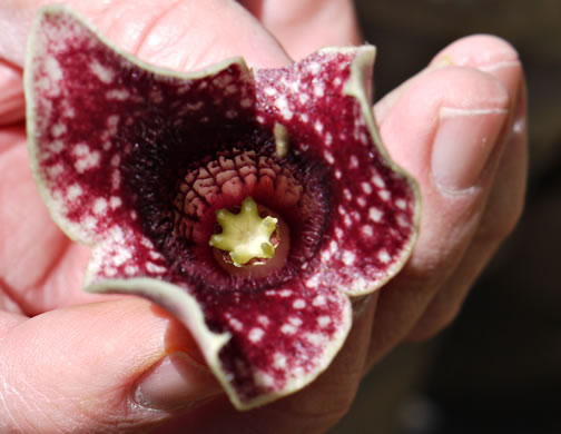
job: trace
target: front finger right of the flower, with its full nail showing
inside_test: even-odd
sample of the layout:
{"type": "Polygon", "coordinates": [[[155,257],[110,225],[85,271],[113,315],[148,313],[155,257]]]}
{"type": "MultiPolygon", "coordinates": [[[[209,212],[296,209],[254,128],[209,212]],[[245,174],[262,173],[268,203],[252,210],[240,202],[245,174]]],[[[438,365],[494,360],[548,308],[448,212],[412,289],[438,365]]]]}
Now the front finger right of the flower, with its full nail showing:
{"type": "Polygon", "coordinates": [[[483,214],[509,95],[495,78],[449,67],[420,77],[381,125],[393,158],[420,183],[420,237],[380,294],[371,363],[400,342],[457,266],[483,214]]]}

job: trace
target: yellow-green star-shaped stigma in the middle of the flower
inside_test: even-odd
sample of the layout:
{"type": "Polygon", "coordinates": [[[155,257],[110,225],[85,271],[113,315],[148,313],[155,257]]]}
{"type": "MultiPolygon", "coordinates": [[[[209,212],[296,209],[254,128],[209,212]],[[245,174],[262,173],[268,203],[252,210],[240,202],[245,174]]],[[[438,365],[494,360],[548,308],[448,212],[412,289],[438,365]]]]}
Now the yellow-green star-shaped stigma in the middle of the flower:
{"type": "Polygon", "coordinates": [[[268,259],[275,256],[270,236],[278,220],[270,216],[260,218],[257,204],[250,197],[242,203],[238,214],[227,209],[216,211],[216,221],[223,231],[213,235],[208,244],[229,251],[235,266],[242,267],[254,258],[268,259]]]}

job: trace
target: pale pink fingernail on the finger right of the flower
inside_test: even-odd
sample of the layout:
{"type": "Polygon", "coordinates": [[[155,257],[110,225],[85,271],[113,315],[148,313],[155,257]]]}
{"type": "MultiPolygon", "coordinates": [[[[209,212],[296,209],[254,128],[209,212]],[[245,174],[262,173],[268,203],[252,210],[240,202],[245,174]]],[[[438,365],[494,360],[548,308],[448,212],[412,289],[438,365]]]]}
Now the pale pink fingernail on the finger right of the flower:
{"type": "Polygon", "coordinates": [[[505,109],[443,107],[432,150],[432,176],[449,191],[473,187],[506,119],[505,109]]]}

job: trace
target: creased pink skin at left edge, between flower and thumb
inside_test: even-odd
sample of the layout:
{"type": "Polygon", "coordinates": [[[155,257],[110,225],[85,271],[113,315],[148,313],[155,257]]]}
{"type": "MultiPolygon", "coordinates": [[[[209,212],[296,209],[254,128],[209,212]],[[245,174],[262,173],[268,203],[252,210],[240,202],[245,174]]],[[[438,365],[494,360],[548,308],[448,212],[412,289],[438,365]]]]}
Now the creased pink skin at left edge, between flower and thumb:
{"type": "Polygon", "coordinates": [[[72,244],[49,217],[24,140],[22,127],[0,131],[0,292],[27,315],[100,299],[78,290],[89,250],[72,244]]]}

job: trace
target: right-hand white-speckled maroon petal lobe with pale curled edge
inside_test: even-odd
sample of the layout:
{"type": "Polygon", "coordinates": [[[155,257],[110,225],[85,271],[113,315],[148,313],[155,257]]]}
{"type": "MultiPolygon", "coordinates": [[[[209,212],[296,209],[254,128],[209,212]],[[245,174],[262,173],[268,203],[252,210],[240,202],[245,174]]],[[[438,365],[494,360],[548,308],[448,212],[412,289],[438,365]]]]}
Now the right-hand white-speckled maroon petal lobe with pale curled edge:
{"type": "MultiPolygon", "coordinates": [[[[332,225],[317,279],[367,294],[410,256],[419,188],[393,164],[372,115],[373,47],[326,48],[291,67],[257,72],[257,118],[283,125],[296,151],[329,166],[332,225]]],[[[286,138],[285,138],[286,139],[286,138]]]]}

